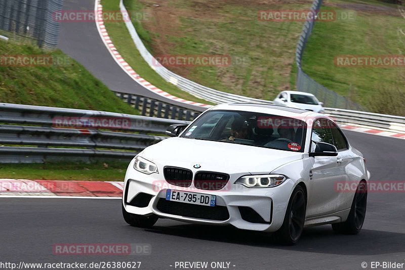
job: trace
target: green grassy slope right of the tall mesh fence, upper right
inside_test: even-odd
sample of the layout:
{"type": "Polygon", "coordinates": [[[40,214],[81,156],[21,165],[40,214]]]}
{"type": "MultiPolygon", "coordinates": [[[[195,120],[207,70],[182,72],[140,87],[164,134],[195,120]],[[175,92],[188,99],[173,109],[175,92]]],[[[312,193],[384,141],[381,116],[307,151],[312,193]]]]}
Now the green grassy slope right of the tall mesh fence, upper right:
{"type": "Polygon", "coordinates": [[[322,10],[354,13],[354,20],[318,22],[303,57],[312,78],[370,111],[405,115],[405,66],[341,67],[342,55],[405,55],[405,18],[398,7],[376,0],[328,0],[322,10]]]}

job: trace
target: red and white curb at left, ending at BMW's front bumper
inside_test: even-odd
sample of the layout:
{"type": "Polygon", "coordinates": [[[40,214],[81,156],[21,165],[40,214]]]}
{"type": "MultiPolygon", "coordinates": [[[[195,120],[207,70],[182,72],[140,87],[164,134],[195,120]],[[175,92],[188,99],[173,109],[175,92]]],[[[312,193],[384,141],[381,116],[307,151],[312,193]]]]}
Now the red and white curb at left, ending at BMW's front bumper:
{"type": "Polygon", "coordinates": [[[0,198],[120,199],[124,182],[0,179],[0,198]]]}

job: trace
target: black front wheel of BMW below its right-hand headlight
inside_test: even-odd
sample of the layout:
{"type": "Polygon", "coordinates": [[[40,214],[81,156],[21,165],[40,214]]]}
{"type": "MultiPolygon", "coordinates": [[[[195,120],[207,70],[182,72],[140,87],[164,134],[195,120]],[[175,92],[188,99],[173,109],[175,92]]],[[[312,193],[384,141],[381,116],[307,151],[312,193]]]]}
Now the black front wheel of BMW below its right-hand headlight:
{"type": "Polygon", "coordinates": [[[297,186],[291,195],[282,226],[275,233],[280,244],[292,246],[298,242],[304,228],[306,206],[305,192],[301,186],[297,186]]]}

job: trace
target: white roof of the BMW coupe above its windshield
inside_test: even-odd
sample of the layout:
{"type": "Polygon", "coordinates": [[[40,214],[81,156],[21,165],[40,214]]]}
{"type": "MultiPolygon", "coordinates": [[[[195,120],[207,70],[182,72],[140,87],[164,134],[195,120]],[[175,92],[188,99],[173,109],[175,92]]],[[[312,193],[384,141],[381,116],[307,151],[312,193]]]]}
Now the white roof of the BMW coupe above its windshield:
{"type": "Polygon", "coordinates": [[[286,106],[261,104],[261,103],[229,103],[221,104],[212,107],[210,110],[231,110],[231,111],[247,111],[247,112],[257,112],[266,113],[272,115],[280,115],[292,118],[306,117],[307,115],[313,114],[312,111],[302,110],[298,108],[291,108],[286,106]]]}

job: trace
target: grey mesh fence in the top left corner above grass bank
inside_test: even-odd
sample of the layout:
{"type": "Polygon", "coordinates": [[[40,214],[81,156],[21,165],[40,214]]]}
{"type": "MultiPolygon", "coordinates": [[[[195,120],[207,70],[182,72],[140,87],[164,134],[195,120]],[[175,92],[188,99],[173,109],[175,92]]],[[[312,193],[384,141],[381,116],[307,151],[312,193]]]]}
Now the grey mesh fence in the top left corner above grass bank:
{"type": "Polygon", "coordinates": [[[18,41],[53,50],[60,31],[54,14],[62,8],[63,0],[0,0],[0,29],[18,41]]]}

